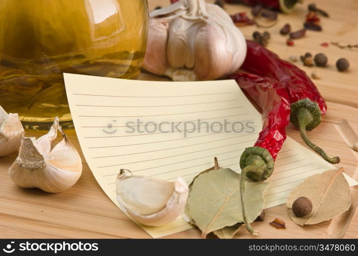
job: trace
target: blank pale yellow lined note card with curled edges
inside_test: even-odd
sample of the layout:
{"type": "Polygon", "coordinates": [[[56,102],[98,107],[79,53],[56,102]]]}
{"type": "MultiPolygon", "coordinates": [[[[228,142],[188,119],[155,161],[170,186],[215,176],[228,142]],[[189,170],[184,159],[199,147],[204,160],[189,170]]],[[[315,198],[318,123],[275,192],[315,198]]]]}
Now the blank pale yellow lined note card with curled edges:
{"type": "MultiPolygon", "coordinates": [[[[238,160],[261,130],[261,115],[234,80],[159,82],[64,74],[67,98],[85,159],[116,204],[121,168],[135,175],[188,184],[219,165],[240,172],[238,160]]],[[[306,177],[334,168],[288,138],[278,155],[265,207],[285,203],[306,177]]],[[[350,179],[350,182],[353,182],[350,179]]],[[[192,228],[181,217],[152,237],[192,228]]]]}

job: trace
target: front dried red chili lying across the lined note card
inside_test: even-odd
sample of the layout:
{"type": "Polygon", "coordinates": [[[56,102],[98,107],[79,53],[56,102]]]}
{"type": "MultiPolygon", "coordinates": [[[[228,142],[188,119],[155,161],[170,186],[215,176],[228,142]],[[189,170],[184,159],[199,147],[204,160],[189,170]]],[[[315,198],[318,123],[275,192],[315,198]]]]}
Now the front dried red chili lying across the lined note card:
{"type": "Polygon", "coordinates": [[[238,73],[229,76],[261,110],[262,131],[253,147],[248,147],[240,158],[240,191],[244,222],[247,229],[255,230],[246,220],[245,177],[253,181],[267,180],[274,169],[274,160],[286,139],[285,128],[290,123],[290,98],[285,87],[277,80],[254,74],[238,73]]]}

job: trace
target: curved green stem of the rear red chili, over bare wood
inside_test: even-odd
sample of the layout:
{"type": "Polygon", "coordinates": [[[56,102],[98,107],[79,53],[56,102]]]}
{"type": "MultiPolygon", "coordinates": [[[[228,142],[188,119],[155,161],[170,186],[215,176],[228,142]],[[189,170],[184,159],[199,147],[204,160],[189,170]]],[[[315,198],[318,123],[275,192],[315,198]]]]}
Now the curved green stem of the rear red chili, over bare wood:
{"type": "Polygon", "coordinates": [[[303,141],[309,146],[314,152],[320,155],[324,160],[329,163],[336,164],[341,161],[339,157],[329,157],[322,148],[315,145],[311,140],[309,140],[306,134],[306,126],[308,123],[312,122],[312,114],[307,109],[301,108],[297,112],[297,121],[298,121],[298,128],[300,130],[300,135],[303,141]]]}

